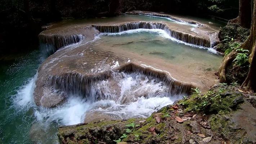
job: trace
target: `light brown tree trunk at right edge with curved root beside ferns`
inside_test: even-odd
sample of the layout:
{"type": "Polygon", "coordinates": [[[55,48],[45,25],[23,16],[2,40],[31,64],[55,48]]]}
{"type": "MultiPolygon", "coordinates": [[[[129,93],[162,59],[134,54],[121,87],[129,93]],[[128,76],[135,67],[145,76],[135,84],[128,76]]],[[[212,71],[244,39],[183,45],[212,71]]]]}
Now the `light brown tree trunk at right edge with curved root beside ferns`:
{"type": "MultiPolygon", "coordinates": [[[[241,0],[240,0],[241,1],[241,0]]],[[[248,39],[240,46],[242,49],[249,50],[250,56],[249,56],[249,62],[252,63],[252,56],[255,53],[255,41],[256,41],[256,0],[254,0],[254,11],[253,11],[253,18],[252,18],[252,27],[251,27],[251,33],[248,39]]],[[[229,64],[235,59],[237,55],[237,49],[233,50],[231,53],[229,53],[226,57],[223,58],[223,61],[221,63],[221,66],[219,68],[219,78],[220,82],[226,82],[226,67],[229,66],[229,64]]]]}

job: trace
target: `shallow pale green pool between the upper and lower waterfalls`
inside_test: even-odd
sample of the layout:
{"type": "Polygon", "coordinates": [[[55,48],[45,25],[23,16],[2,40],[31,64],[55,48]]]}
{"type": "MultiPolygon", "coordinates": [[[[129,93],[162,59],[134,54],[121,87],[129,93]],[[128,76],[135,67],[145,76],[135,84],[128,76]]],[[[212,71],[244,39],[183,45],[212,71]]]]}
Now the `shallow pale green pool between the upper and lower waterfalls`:
{"type": "MultiPolygon", "coordinates": [[[[184,44],[171,39],[163,30],[130,30],[122,34],[101,36],[99,47],[127,50],[139,54],[140,57],[162,59],[167,63],[178,64],[192,71],[196,67],[217,70],[222,56],[212,48],[184,44]]],[[[128,56],[129,57],[129,56],[128,56]]]]}

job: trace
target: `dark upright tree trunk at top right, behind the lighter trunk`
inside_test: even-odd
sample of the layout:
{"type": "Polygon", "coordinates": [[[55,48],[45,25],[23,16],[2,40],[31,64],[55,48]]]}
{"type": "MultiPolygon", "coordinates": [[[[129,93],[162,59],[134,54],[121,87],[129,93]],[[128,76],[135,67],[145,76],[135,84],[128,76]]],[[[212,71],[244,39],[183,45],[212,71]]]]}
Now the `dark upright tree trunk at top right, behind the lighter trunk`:
{"type": "Polygon", "coordinates": [[[244,28],[250,29],[252,20],[251,0],[239,0],[239,15],[229,23],[238,23],[244,28]]]}

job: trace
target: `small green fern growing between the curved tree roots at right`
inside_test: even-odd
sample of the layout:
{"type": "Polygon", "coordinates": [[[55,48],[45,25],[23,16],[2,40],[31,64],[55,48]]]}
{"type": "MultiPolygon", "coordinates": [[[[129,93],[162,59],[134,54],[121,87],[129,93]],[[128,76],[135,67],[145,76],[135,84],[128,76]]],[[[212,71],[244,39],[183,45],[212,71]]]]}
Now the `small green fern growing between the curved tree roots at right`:
{"type": "Polygon", "coordinates": [[[247,54],[247,52],[249,52],[249,50],[237,49],[236,51],[238,51],[239,53],[237,54],[237,56],[235,57],[233,62],[234,62],[235,66],[240,67],[243,64],[245,64],[246,62],[248,62],[248,54],[247,54]]]}

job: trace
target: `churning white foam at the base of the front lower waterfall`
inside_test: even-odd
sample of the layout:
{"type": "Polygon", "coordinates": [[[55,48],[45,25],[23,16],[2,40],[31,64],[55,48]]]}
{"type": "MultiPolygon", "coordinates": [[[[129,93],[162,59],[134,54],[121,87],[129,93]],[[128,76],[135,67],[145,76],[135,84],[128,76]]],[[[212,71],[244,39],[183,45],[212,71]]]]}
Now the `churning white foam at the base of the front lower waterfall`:
{"type": "MultiPolygon", "coordinates": [[[[118,81],[118,85],[121,87],[120,99],[114,99],[113,97],[117,97],[119,94],[113,95],[113,93],[109,93],[112,94],[112,99],[106,97],[106,99],[98,102],[82,96],[71,95],[63,105],[55,108],[43,108],[37,107],[33,100],[36,78],[37,75],[20,87],[13,102],[14,106],[19,109],[26,108],[28,110],[33,108],[36,123],[40,123],[46,129],[52,123],[74,125],[84,122],[85,113],[92,109],[104,111],[121,119],[148,117],[154,111],[165,105],[172,104],[177,99],[169,97],[166,86],[161,81],[138,73],[121,73],[121,79],[118,81]]],[[[102,85],[98,85],[100,86],[98,88],[101,90],[102,88],[108,88],[108,80],[101,83],[102,85]]]]}

